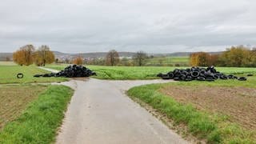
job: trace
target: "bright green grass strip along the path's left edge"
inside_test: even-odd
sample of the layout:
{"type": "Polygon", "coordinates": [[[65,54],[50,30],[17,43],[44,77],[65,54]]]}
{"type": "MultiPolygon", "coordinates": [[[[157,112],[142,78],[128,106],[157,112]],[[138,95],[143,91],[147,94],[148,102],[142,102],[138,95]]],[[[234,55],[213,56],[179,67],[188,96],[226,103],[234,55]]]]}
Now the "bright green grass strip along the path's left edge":
{"type": "Polygon", "coordinates": [[[49,86],[23,113],[0,132],[0,143],[51,143],[64,118],[73,90],[49,86]]]}

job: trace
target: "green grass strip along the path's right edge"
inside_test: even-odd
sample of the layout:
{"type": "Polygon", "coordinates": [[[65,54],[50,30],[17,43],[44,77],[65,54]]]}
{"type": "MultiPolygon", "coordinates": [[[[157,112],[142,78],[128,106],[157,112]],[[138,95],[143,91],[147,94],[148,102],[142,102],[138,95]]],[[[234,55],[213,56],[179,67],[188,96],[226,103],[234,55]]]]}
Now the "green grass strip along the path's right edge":
{"type": "Polygon", "coordinates": [[[207,138],[208,142],[220,142],[217,126],[206,114],[195,110],[191,105],[182,105],[173,98],[158,93],[162,86],[162,84],[137,86],[128,90],[128,94],[166,114],[166,117],[173,119],[175,123],[185,123],[190,132],[198,138],[207,138]]]}

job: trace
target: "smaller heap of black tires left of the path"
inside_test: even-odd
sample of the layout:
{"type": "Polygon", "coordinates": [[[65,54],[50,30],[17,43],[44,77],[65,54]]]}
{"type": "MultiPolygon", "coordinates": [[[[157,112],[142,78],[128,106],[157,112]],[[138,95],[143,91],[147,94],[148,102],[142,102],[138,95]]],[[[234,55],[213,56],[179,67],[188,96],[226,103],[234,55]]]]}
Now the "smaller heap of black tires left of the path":
{"type": "Polygon", "coordinates": [[[36,74],[34,77],[66,77],[66,78],[79,78],[79,77],[90,77],[96,75],[96,73],[85,66],[67,66],[64,70],[58,73],[50,74],[36,74]]]}

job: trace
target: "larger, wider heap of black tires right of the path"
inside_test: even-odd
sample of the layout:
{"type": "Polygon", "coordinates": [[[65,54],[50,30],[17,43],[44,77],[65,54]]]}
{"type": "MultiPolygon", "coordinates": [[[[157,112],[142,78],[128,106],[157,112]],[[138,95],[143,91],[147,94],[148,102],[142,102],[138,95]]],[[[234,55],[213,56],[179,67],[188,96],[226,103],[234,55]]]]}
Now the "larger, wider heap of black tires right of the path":
{"type": "Polygon", "coordinates": [[[226,75],[217,71],[214,66],[204,67],[191,67],[187,69],[175,69],[167,74],[158,74],[162,79],[174,79],[174,81],[209,81],[213,82],[217,79],[238,79],[239,81],[246,81],[245,77],[238,78],[233,74],[226,75]]]}

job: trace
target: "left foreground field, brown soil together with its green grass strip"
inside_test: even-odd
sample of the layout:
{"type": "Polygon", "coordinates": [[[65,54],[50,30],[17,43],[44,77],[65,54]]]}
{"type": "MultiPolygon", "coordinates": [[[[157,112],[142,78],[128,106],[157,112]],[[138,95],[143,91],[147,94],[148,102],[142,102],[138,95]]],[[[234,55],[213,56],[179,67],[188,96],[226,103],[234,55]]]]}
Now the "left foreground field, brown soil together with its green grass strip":
{"type": "Polygon", "coordinates": [[[0,143],[54,142],[73,90],[66,86],[30,85],[0,89],[0,124],[5,125],[0,130],[0,143]]]}

